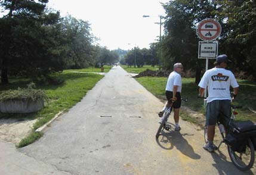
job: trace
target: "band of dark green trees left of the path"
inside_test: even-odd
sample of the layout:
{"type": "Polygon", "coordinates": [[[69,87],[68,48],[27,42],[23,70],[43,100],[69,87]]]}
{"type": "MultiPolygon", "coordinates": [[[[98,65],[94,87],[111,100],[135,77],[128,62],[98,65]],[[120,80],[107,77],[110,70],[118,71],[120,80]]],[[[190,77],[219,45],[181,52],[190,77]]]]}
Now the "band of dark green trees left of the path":
{"type": "Polygon", "coordinates": [[[88,21],[47,10],[47,0],[1,0],[1,83],[8,76],[33,80],[69,68],[99,67],[119,60],[118,54],[95,45],[88,21]]]}

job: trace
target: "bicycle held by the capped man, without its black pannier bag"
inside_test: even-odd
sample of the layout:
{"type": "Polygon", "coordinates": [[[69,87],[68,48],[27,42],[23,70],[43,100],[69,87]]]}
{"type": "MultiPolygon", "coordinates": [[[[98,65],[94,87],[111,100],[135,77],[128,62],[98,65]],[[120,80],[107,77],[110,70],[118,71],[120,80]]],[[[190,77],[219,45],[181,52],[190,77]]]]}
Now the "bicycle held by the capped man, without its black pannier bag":
{"type": "MultiPolygon", "coordinates": [[[[220,121],[217,121],[218,129],[220,130],[222,140],[217,146],[217,148],[215,148],[215,150],[218,150],[221,144],[225,143],[227,145],[227,151],[229,152],[230,160],[239,170],[246,171],[246,170],[249,170],[254,164],[254,160],[255,160],[254,144],[252,143],[252,137],[249,137],[248,135],[246,144],[243,145],[242,149],[240,149],[239,151],[233,150],[232,145],[230,145],[229,140],[227,140],[227,135],[230,132],[233,132],[232,130],[236,130],[235,127],[232,127],[234,124],[235,115],[238,114],[238,112],[236,112],[235,110],[242,108],[242,106],[236,106],[236,105],[230,105],[230,106],[232,108],[232,115],[230,117],[229,126],[227,127],[227,130],[225,129],[227,132],[223,132],[221,130],[221,127],[220,127],[221,123],[220,121]]],[[[208,129],[208,126],[205,125],[205,130],[204,130],[205,143],[208,143],[207,129],[208,129]]]]}

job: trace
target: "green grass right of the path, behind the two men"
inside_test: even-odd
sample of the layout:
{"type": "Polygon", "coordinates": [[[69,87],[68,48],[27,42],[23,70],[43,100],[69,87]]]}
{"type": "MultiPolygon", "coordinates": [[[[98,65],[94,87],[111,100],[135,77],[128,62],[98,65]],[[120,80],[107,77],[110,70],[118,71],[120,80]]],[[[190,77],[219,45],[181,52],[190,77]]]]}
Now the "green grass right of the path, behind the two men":
{"type": "MultiPolygon", "coordinates": [[[[157,96],[159,99],[165,100],[167,77],[139,77],[136,80],[153,95],[157,96]]],[[[199,87],[195,84],[195,79],[183,78],[182,82],[181,96],[189,99],[184,105],[194,111],[204,112],[203,100],[197,98],[199,87]]],[[[242,105],[243,108],[237,110],[239,114],[236,120],[252,120],[255,122],[256,114],[249,111],[248,108],[256,110],[256,83],[248,80],[238,80],[238,83],[240,86],[239,95],[233,104],[242,105]]]]}

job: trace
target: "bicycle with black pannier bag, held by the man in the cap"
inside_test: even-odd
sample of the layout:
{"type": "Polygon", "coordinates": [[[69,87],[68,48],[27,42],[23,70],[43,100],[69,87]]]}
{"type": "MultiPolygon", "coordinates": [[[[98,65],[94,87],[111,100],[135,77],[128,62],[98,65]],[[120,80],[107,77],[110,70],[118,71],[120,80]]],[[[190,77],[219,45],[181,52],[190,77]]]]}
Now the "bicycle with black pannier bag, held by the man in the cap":
{"type": "MultiPolygon", "coordinates": [[[[227,132],[224,132],[223,129],[221,129],[220,121],[217,122],[222,140],[215,150],[218,150],[220,145],[225,143],[227,145],[230,160],[239,170],[246,171],[253,166],[255,160],[254,144],[252,139],[255,136],[256,129],[252,126],[254,128],[251,127],[250,131],[248,129],[247,132],[245,131],[241,133],[241,131],[239,131],[239,127],[236,127],[234,120],[235,115],[238,114],[235,110],[242,108],[242,106],[231,105],[231,108],[232,115],[230,117],[229,126],[225,129],[227,132]],[[239,134],[243,137],[240,140],[237,137],[239,134]]],[[[247,121],[245,121],[245,123],[246,122],[247,121]]],[[[208,143],[207,129],[208,126],[205,126],[205,143],[208,143]]]]}

